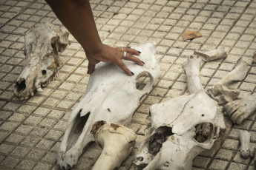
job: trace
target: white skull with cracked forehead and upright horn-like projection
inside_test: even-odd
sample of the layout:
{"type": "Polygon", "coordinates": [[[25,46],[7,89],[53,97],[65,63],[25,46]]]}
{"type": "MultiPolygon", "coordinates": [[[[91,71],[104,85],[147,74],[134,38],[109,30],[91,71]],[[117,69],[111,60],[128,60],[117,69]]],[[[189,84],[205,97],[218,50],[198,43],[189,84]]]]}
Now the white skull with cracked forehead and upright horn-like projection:
{"type": "Polygon", "coordinates": [[[145,170],[191,169],[204,149],[211,149],[225,129],[220,106],[200,84],[200,59],[191,56],[186,65],[188,91],[150,107],[150,119],[137,154],[137,166],[145,170]]]}

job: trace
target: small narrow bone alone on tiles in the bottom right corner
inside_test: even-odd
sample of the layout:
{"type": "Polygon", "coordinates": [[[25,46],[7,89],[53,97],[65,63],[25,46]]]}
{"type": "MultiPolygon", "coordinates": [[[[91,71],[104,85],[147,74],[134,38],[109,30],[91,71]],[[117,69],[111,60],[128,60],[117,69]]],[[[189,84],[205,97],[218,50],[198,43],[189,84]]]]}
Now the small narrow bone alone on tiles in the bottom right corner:
{"type": "Polygon", "coordinates": [[[254,152],[250,148],[250,133],[246,130],[239,131],[239,140],[241,143],[240,155],[247,159],[248,157],[254,157],[254,152]]]}

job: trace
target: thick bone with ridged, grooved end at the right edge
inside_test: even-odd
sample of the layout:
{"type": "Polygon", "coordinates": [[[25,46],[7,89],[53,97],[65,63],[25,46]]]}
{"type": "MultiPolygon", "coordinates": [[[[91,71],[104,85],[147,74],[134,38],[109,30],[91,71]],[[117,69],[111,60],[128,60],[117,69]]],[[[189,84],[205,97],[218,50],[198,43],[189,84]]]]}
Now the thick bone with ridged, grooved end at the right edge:
{"type": "Polygon", "coordinates": [[[231,101],[224,106],[226,114],[233,123],[241,124],[256,110],[256,93],[237,101],[231,101]]]}

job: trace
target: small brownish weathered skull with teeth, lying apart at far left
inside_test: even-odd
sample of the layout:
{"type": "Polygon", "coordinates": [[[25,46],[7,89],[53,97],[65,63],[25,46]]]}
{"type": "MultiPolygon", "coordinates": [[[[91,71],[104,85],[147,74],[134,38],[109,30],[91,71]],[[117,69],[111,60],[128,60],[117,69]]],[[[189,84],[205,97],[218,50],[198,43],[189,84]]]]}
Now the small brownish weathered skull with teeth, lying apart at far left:
{"type": "Polygon", "coordinates": [[[61,67],[59,52],[68,45],[68,32],[44,23],[34,26],[25,35],[24,67],[15,85],[17,98],[23,100],[37,91],[42,91],[61,67]]]}

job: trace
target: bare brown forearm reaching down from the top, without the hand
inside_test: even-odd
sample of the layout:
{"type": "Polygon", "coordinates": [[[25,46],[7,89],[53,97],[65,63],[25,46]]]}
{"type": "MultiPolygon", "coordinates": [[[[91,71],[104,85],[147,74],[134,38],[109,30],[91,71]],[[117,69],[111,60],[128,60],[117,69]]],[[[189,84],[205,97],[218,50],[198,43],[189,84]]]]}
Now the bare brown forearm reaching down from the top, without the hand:
{"type": "Polygon", "coordinates": [[[88,0],[45,0],[74,38],[90,53],[99,52],[102,42],[88,0]]]}

